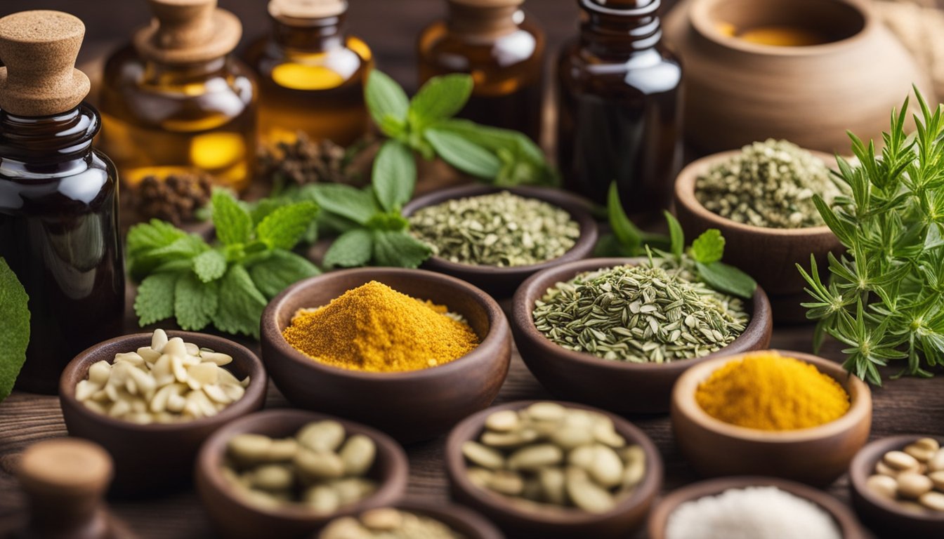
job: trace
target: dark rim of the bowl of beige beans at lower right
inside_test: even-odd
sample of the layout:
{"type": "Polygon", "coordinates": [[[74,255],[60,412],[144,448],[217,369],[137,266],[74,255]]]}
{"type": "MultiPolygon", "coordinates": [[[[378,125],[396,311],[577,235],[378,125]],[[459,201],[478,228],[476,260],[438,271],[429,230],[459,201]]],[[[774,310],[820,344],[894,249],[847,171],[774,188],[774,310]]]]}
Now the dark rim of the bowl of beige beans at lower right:
{"type": "Polygon", "coordinates": [[[895,514],[898,518],[914,520],[916,522],[944,524],[944,512],[909,512],[894,500],[876,496],[866,486],[866,480],[872,475],[869,470],[875,467],[875,463],[882,459],[882,455],[886,451],[892,451],[896,448],[901,449],[919,438],[935,438],[944,446],[944,435],[939,434],[898,434],[872,440],[866,444],[866,446],[859,449],[855,453],[855,456],[852,457],[852,461],[849,464],[849,488],[860,497],[863,497],[869,504],[883,509],[888,513],[895,514]]]}

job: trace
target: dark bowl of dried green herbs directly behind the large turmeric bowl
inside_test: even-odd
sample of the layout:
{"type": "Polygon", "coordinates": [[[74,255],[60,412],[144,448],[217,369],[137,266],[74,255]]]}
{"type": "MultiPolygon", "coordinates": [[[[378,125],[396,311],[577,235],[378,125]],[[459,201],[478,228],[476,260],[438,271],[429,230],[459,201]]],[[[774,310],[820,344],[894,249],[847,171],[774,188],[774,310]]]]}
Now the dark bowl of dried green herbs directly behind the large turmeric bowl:
{"type": "Polygon", "coordinates": [[[499,298],[535,272],[590,256],[598,236],[589,202],[540,187],[463,185],[420,196],[403,214],[432,250],[423,267],[499,298]]]}

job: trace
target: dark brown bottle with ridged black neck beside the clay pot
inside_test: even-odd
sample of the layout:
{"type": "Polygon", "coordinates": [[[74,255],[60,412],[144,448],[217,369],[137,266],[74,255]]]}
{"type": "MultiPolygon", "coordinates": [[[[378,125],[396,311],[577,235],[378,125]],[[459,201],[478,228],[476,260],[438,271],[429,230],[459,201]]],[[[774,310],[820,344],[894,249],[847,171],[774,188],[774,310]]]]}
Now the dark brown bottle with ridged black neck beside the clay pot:
{"type": "Polygon", "coordinates": [[[660,0],[578,0],[558,62],[558,163],[598,203],[612,181],[632,217],[666,208],[681,160],[682,66],[661,44],[660,0]]]}

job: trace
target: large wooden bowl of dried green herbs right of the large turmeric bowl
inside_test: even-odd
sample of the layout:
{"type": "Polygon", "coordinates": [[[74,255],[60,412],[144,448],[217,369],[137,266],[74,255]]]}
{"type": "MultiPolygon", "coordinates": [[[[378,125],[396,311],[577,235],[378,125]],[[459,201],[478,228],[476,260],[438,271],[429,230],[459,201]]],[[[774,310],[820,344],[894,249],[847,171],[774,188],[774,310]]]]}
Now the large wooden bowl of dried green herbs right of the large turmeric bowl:
{"type": "MultiPolygon", "coordinates": [[[[659,260],[659,259],[655,259],[659,260]]],[[[761,287],[742,300],[649,259],[587,259],[539,272],[514,295],[512,331],[559,398],[615,413],[666,413],[685,369],[770,342],[761,287]]]]}

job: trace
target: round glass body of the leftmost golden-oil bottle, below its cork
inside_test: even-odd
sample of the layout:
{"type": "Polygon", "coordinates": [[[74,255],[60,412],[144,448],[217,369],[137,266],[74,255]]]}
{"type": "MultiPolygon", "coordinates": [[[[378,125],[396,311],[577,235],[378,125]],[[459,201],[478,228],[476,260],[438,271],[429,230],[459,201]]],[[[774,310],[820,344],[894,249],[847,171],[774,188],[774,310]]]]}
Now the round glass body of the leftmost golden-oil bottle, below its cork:
{"type": "Polygon", "coordinates": [[[122,181],[205,171],[243,191],[256,160],[255,88],[234,59],[170,69],[127,47],[105,67],[100,145],[122,181]]]}

